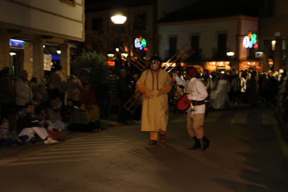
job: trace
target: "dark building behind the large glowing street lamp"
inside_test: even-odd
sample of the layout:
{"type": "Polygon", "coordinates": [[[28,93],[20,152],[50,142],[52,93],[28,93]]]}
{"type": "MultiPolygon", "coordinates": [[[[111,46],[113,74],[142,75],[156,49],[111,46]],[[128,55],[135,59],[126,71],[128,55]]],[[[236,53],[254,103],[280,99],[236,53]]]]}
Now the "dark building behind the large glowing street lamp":
{"type": "Polygon", "coordinates": [[[156,21],[155,0],[87,1],[87,48],[103,54],[113,53],[112,60],[116,59],[115,49],[120,47],[127,52],[130,51],[130,56],[134,53],[141,58],[150,58],[158,51],[156,21]],[[110,19],[118,11],[127,17],[124,24],[114,24],[110,19]],[[136,41],[142,39],[145,41],[145,47],[137,47],[136,41]]]}

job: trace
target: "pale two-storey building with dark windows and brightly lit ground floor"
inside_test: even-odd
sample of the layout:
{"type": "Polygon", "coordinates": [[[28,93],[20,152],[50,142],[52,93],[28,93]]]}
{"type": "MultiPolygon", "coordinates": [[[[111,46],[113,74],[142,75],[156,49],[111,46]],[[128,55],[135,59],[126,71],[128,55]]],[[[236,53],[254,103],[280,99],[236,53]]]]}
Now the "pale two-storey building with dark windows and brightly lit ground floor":
{"type": "Polygon", "coordinates": [[[237,3],[231,5],[230,11],[221,3],[206,6],[210,13],[203,9],[203,3],[207,0],[168,14],[158,22],[160,56],[168,60],[180,47],[189,44],[195,52],[185,64],[200,65],[209,71],[262,71],[262,62],[255,55],[258,42],[250,48],[243,45],[248,34],[258,35],[258,17],[234,11],[237,3]],[[228,51],[234,52],[234,56],[228,57],[228,51]]]}

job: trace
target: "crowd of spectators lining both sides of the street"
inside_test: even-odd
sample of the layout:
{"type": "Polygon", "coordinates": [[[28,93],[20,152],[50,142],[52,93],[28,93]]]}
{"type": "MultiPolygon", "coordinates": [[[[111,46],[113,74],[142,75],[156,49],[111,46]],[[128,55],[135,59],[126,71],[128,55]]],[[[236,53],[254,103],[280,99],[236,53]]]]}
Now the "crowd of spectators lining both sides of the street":
{"type": "MultiPolygon", "coordinates": [[[[45,144],[53,144],[64,140],[68,131],[97,133],[107,127],[101,119],[140,120],[141,108],[131,114],[123,107],[135,93],[139,77],[135,71],[110,68],[103,89],[91,89],[91,82],[80,81],[75,74],[64,78],[61,65],[55,66],[46,84],[35,77],[28,80],[28,76],[23,70],[12,80],[9,67],[0,72],[0,146],[26,145],[35,134],[45,144]],[[97,98],[99,92],[104,100],[97,98]]],[[[288,122],[286,71],[228,74],[204,70],[199,78],[209,93],[207,109],[224,110],[230,103],[257,107],[262,102],[275,106],[282,121],[288,122]]]]}

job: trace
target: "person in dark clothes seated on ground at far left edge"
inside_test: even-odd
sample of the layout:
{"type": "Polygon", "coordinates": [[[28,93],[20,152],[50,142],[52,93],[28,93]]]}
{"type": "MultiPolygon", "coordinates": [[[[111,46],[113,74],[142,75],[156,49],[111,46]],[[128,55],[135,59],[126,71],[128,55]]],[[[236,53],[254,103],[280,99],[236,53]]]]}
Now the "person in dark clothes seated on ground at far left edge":
{"type": "Polygon", "coordinates": [[[15,137],[12,133],[10,133],[8,119],[2,118],[0,124],[0,147],[10,147],[14,144],[24,146],[27,145],[27,139],[28,135],[15,137]]]}

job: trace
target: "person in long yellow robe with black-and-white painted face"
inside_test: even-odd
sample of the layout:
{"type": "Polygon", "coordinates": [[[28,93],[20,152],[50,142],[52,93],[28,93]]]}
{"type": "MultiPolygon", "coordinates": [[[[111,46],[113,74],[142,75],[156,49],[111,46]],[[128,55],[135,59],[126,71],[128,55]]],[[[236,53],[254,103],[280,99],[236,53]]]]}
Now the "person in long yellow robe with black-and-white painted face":
{"type": "Polygon", "coordinates": [[[150,132],[149,145],[155,145],[160,133],[161,143],[166,142],[168,121],[168,96],[172,88],[170,75],[161,67],[161,59],[154,55],[150,59],[151,69],[144,71],[136,83],[143,94],[141,131],[150,132]]]}

